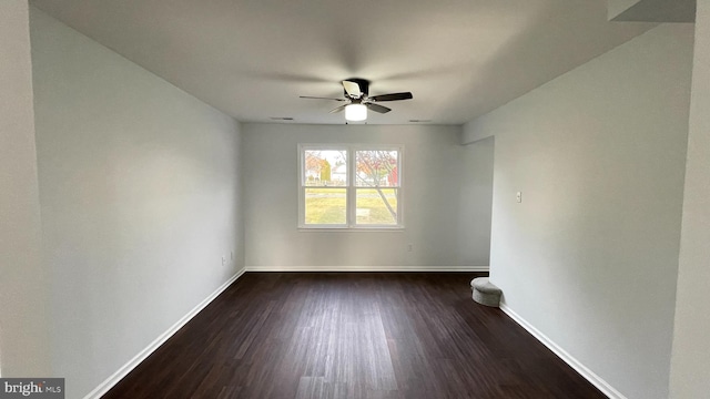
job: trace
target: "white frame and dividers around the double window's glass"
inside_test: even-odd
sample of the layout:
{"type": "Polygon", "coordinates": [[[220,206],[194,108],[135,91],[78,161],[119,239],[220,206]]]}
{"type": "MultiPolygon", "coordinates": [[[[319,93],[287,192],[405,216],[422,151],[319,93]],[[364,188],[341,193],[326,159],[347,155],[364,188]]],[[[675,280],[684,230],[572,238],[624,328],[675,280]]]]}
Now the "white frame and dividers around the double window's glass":
{"type": "Polygon", "coordinates": [[[404,145],[402,144],[298,144],[298,167],[297,186],[298,186],[298,229],[303,231],[402,231],[404,229],[403,213],[403,194],[404,194],[404,145]],[[347,154],[347,176],[344,186],[333,188],[345,188],[346,192],[346,223],[345,224],[306,224],[305,223],[305,152],[318,150],[339,150],[347,154]],[[357,224],[357,190],[367,188],[366,186],[357,186],[355,180],[357,151],[397,151],[397,186],[383,187],[395,188],[397,192],[397,223],[396,224],[357,224]]]}

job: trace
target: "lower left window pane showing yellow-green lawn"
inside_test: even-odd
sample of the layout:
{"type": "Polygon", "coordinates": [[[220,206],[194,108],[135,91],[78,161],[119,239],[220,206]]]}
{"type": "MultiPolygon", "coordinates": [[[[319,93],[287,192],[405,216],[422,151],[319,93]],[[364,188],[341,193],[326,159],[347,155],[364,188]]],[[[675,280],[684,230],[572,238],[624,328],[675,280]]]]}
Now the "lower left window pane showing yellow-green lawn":
{"type": "Polygon", "coordinates": [[[345,188],[305,188],[306,224],[341,224],[347,221],[345,188]]]}

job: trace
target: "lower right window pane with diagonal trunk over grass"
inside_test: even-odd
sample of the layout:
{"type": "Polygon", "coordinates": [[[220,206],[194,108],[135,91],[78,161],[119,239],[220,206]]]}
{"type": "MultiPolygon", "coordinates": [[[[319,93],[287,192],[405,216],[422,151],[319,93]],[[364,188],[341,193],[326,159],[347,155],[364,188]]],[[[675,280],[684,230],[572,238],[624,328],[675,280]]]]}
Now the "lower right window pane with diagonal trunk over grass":
{"type": "Polygon", "coordinates": [[[396,225],[397,188],[357,188],[355,207],[358,225],[396,225]]]}

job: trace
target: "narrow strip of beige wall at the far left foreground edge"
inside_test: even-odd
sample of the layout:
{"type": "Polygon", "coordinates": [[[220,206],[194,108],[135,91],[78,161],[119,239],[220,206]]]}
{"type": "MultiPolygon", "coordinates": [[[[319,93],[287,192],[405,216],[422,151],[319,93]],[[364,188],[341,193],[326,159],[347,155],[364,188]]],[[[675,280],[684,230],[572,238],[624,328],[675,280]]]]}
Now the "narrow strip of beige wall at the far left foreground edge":
{"type": "Polygon", "coordinates": [[[26,0],[0,1],[0,376],[49,377],[26,0]]]}

